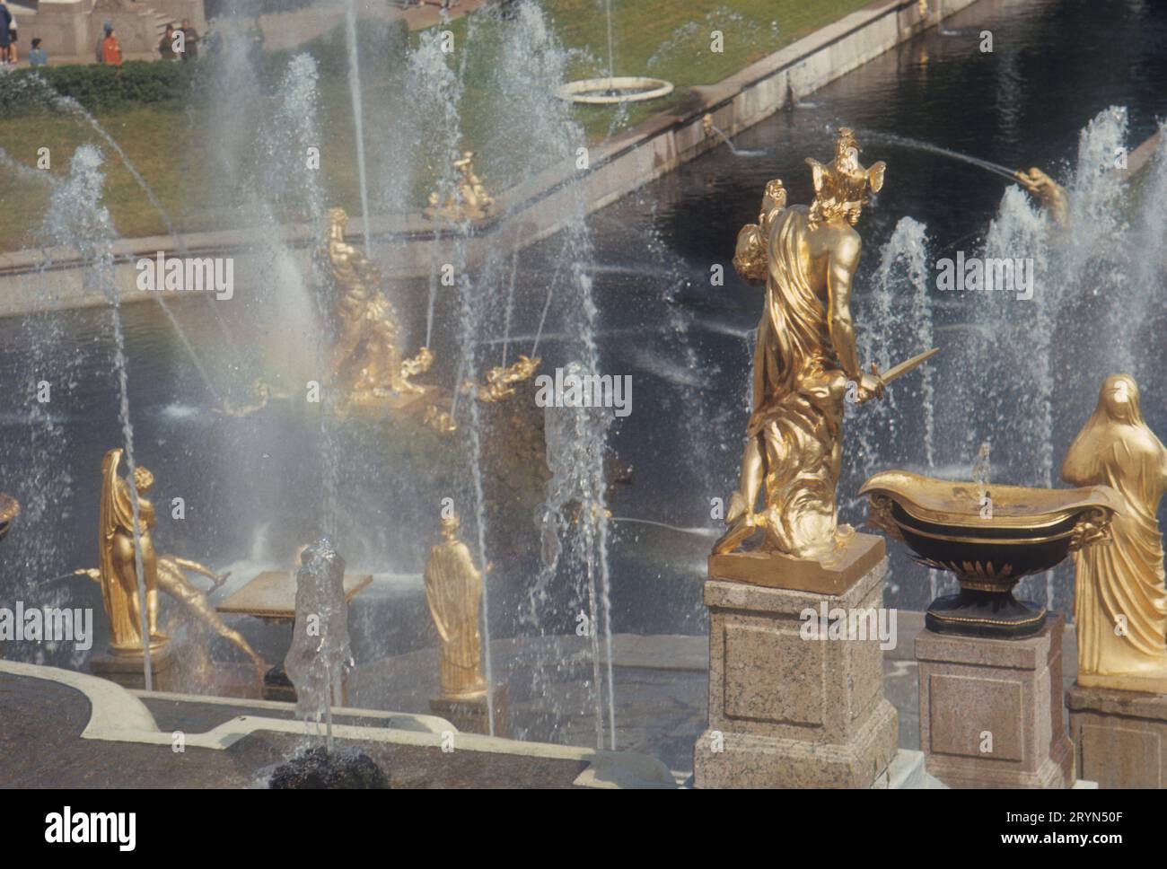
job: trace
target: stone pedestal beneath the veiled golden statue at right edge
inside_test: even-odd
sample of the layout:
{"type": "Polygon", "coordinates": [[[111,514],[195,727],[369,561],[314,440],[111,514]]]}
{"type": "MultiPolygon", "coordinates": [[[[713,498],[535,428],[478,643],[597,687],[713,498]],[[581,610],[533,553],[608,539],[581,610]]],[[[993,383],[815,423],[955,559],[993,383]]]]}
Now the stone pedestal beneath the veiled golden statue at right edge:
{"type": "Polygon", "coordinates": [[[1167,787],[1167,695],[1075,684],[1065,705],[1082,778],[1099,787],[1167,787]]]}

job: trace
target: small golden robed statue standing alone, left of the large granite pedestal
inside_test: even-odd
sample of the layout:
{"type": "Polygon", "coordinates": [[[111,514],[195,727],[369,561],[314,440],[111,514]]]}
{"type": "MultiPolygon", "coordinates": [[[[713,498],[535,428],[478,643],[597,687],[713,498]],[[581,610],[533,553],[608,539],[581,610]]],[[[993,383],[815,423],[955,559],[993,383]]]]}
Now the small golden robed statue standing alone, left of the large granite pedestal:
{"type": "MultiPolygon", "coordinates": [[[[482,640],[478,609],[482,574],[474,567],[470,551],[457,539],[457,516],[441,520],[442,542],[429,549],[426,562],[426,603],[441,640],[439,672],[445,698],[466,699],[487,693],[478,672],[482,640]]],[[[487,572],[489,572],[489,566],[487,572]]]]}

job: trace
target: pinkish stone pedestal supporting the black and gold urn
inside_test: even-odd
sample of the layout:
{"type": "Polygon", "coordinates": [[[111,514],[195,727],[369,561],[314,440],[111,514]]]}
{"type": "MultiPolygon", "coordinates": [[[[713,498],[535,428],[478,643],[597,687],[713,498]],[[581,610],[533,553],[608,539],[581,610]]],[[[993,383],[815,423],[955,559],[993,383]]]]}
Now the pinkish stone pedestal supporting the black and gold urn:
{"type": "Polygon", "coordinates": [[[985,639],[916,637],[920,747],[949,787],[1061,789],[1074,784],[1062,719],[1062,617],[1041,633],[985,639]]]}

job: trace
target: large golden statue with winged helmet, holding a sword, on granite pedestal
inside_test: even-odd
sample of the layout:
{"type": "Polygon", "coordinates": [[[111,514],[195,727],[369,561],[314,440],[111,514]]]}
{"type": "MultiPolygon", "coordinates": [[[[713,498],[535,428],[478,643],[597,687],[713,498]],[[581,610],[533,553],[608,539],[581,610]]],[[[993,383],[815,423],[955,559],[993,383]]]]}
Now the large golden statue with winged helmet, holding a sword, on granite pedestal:
{"type": "Polygon", "coordinates": [[[766,303],[741,483],[714,553],[733,552],[757,528],[763,548],[801,559],[829,560],[840,545],[843,402],[848,394],[858,402],[883,394],[874,367],[859,367],[851,289],[862,248],[853,227],[883,185],[885,164],[865,168],[858,154],[854,134],[840,129],[830,166],[806,160],[813,203],[787,208],[782,182],[771,181],[759,223],[738,236],[734,267],[766,282],[766,303]],[[764,505],[755,512],[763,482],[764,505]]]}

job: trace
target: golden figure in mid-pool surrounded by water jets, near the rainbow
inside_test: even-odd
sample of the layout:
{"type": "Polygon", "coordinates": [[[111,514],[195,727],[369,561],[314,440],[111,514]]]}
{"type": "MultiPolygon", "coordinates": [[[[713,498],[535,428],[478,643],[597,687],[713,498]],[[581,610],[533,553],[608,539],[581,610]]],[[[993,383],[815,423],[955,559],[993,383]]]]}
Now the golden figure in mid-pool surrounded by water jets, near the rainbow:
{"type": "Polygon", "coordinates": [[[417,356],[403,358],[397,311],[382,292],[380,269],[344,240],[349,220],[344,209],[331,209],[328,218],[324,253],[336,283],[340,330],[333,345],[333,381],[357,402],[424,392],[425,387],[410,383],[410,378],[429,370],[433,353],[421,348],[417,356]]]}

